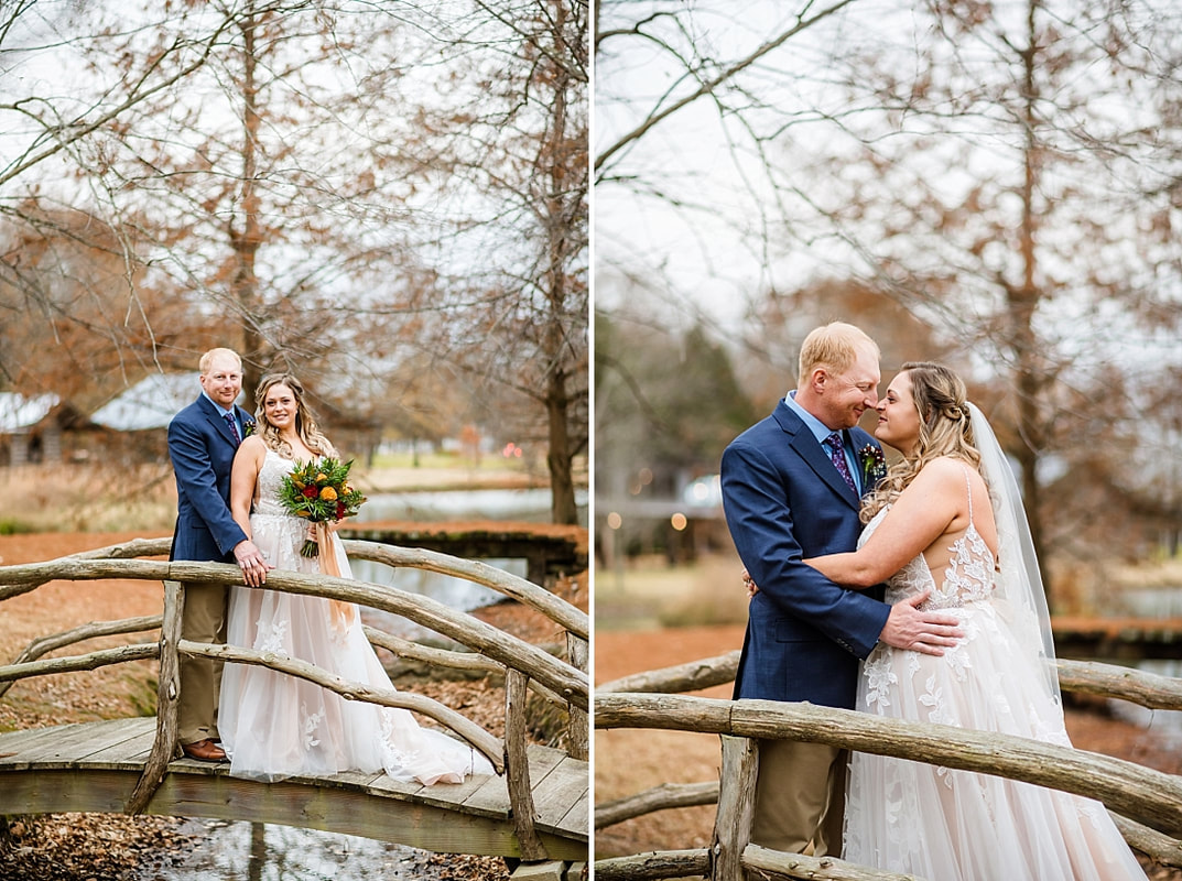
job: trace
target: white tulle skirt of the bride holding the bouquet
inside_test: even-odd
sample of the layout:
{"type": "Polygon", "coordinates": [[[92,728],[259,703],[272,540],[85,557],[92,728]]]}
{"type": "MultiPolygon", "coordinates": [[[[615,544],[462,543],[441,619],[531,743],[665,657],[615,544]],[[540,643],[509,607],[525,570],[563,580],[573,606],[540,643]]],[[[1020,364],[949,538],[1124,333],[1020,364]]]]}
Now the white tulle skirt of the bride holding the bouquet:
{"type": "MultiPolygon", "coordinates": [[[[254,515],[251,527],[254,543],[278,569],[319,572],[318,560],[299,555],[306,522],[254,515]]],[[[336,535],[332,544],[342,576],[351,577],[336,535]]],[[[235,587],[226,641],[298,658],[372,687],[392,687],[351,603],[235,587]]],[[[407,710],[345,700],[255,665],[226,665],[219,730],[230,774],[255,779],[384,770],[395,779],[431,784],[461,783],[469,774],[492,770],[467,743],[420,727],[407,710]]]]}

